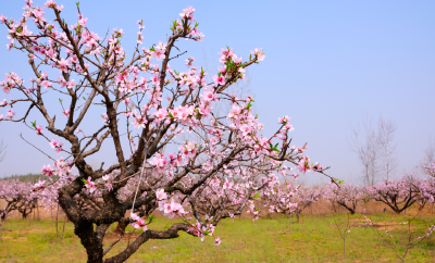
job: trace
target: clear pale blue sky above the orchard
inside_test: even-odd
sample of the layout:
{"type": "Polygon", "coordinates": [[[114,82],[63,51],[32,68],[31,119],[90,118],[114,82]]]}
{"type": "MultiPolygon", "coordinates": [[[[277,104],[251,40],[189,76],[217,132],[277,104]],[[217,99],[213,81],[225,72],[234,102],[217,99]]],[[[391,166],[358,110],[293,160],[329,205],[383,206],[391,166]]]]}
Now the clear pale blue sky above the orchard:
{"type": "MultiPolygon", "coordinates": [[[[58,3],[65,5],[65,21],[75,22],[74,1],[58,3]]],[[[0,13],[20,18],[23,5],[24,1],[2,1],[0,13]]],[[[206,38],[182,43],[188,50],[185,57],[192,55],[200,65],[207,53],[208,61],[217,65],[223,47],[244,58],[263,48],[264,62],[250,67],[260,120],[272,132],[278,116],[289,115],[294,142],[308,142],[308,155],[332,166],[331,175],[360,183],[361,168],[347,139],[350,125],[361,122],[363,114],[374,120],[382,114],[396,122],[397,177],[423,159],[430,137],[435,137],[435,1],[80,1],[89,28],[100,36],[108,28],[123,28],[125,48],[134,46],[136,22],[141,18],[144,46],[164,41],[171,22],[187,5],[196,9],[206,38]]],[[[0,74],[15,72],[28,84],[27,59],[5,49],[4,25],[0,36],[0,74]]],[[[130,58],[130,49],[126,50],[130,58]]],[[[0,100],[10,97],[0,93],[0,100]]],[[[95,117],[101,122],[98,112],[95,117]]],[[[23,124],[2,122],[0,138],[8,153],[0,176],[38,173],[50,163],[20,139],[21,133],[50,151],[23,124]]],[[[110,152],[94,161],[113,162],[110,152]]],[[[311,184],[321,179],[313,174],[304,177],[311,184]]]]}

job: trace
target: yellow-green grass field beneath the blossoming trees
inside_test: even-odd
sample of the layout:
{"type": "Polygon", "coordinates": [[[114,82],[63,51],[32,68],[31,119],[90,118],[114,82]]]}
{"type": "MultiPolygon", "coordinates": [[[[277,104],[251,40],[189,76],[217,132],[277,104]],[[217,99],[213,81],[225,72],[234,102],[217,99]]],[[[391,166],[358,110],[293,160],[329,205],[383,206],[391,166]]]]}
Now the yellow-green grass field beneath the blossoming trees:
{"type": "MultiPolygon", "coordinates": [[[[302,215],[300,223],[286,217],[225,220],[216,227],[214,236],[222,239],[214,247],[214,238],[199,238],[181,233],[173,240],[150,240],[128,262],[399,262],[393,250],[361,220],[351,217],[359,226],[351,229],[347,241],[347,260],[343,259],[343,239],[331,223],[332,215],[302,215]]],[[[397,222],[403,216],[393,214],[371,215],[376,223],[387,228],[398,243],[405,243],[406,229],[397,222]],[[395,223],[396,222],[396,223],[395,223]]],[[[343,223],[346,215],[336,215],[343,223]]],[[[435,216],[418,217],[412,223],[413,235],[422,234],[435,216]]],[[[165,229],[174,221],[157,218],[150,229],[165,229]]],[[[62,224],[60,224],[60,227],[62,224]]],[[[109,229],[104,243],[114,240],[109,229]]],[[[128,228],[127,230],[132,230],[128,228]]],[[[378,228],[385,233],[384,227],[378,228]]],[[[435,237],[431,237],[407,255],[406,262],[435,262],[435,237]]],[[[128,242],[119,242],[109,253],[114,254],[128,242]]],[[[73,225],[66,224],[65,236],[59,240],[51,221],[10,220],[4,224],[3,241],[0,242],[0,262],[85,262],[86,252],[73,233],[73,225]]]]}

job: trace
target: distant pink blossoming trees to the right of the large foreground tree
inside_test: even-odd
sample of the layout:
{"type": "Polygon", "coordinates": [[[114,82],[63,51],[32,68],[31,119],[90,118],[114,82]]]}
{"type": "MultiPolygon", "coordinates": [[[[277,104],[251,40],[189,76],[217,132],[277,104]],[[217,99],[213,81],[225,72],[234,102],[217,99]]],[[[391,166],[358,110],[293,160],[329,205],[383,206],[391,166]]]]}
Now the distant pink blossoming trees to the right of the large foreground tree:
{"type": "Polygon", "coordinates": [[[401,179],[385,180],[375,186],[328,184],[324,188],[310,188],[282,183],[269,188],[274,195],[266,191],[263,200],[271,213],[295,213],[298,220],[302,210],[320,199],[343,206],[351,214],[356,213],[358,203],[369,201],[382,202],[399,214],[414,204],[421,210],[427,202],[434,202],[435,164],[425,163],[423,170],[423,177],[406,175],[401,179]]]}

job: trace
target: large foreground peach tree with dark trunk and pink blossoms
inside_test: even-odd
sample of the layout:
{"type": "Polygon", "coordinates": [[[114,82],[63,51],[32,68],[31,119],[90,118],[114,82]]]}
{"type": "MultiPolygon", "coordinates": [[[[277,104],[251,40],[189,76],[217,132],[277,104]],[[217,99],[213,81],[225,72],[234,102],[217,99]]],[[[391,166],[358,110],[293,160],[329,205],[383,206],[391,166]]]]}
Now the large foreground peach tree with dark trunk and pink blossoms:
{"type": "MultiPolygon", "coordinates": [[[[302,154],[306,147],[290,146],[288,116],[278,118],[275,133],[261,136],[263,125],[251,112],[254,100],[227,92],[245,78],[248,66],[264,60],[261,49],[245,59],[222,49],[216,73],[196,66],[187,55],[186,67],[176,70],[170,62],[186,53],[176,42],[204,37],[194,8],[172,22],[166,42],[148,48],[141,47],[145,26],[139,21],[132,60],[121,45],[122,29],[100,37],[88,28],[78,3],[75,22],[65,21],[62,10],[52,0],[44,7],[26,0],[20,20],[0,15],[9,29],[8,49],[26,53],[34,73],[28,85],[18,74],[7,73],[0,85],[15,99],[0,101],[0,108],[8,109],[0,120],[24,122],[53,149],[38,149],[52,163],[42,166],[47,178],[33,189],[55,186],[59,205],[74,224],[88,262],[102,262],[115,246],[103,250],[113,223],[121,230],[127,224],[142,230],[122,252],[104,260],[123,262],[149,239],[177,238],[178,231],[203,239],[213,235],[220,220],[244,206],[256,212],[252,199],[285,177],[286,165],[324,174],[302,154]],[[212,83],[207,82],[209,74],[212,83]],[[49,101],[53,96],[60,97],[57,108],[49,101]],[[18,105],[25,110],[15,116],[18,105]],[[94,109],[101,111],[98,127],[89,116],[94,109]],[[28,123],[30,112],[44,122],[28,123]],[[103,143],[112,146],[117,161],[92,168],[86,160],[103,143]],[[66,156],[54,159],[54,153],[66,156]],[[163,231],[150,229],[156,209],[179,222],[163,231]]],[[[34,146],[26,133],[22,138],[34,146]]]]}

